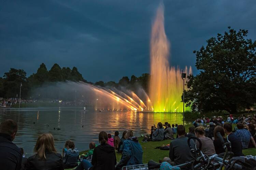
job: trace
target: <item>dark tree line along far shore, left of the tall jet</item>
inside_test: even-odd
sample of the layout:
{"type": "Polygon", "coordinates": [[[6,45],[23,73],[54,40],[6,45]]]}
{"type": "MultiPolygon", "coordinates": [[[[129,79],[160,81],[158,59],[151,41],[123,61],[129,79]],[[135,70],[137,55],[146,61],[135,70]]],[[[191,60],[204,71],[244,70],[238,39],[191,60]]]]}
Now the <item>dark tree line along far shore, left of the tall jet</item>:
{"type": "Polygon", "coordinates": [[[31,74],[29,77],[27,77],[27,73],[23,69],[10,68],[9,72],[5,72],[3,77],[0,77],[0,97],[19,98],[20,85],[22,85],[21,96],[23,99],[28,99],[30,97],[30,92],[34,88],[61,81],[82,81],[102,87],[126,87],[131,90],[136,90],[136,87],[140,85],[147,91],[149,77],[148,73],[144,73],[140,77],[132,75],[131,79],[123,77],[118,83],[114,81],[105,83],[103,81],[98,81],[92,83],[87,82],[76,67],[73,67],[72,69],[69,67],[61,68],[58,64],[54,64],[48,71],[45,64],[42,63],[37,72],[31,74]]]}

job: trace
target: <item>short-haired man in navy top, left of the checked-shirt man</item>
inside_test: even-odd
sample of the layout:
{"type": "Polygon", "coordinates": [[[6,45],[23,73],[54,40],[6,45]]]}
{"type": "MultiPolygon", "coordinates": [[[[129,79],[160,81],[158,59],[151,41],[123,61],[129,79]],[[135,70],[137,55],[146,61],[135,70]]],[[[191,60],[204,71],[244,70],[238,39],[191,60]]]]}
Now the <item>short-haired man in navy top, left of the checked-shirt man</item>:
{"type": "Polygon", "coordinates": [[[234,156],[243,156],[241,140],[237,135],[232,133],[232,125],[225,123],[223,128],[227,135],[227,140],[231,143],[231,151],[234,153],[234,156]]]}

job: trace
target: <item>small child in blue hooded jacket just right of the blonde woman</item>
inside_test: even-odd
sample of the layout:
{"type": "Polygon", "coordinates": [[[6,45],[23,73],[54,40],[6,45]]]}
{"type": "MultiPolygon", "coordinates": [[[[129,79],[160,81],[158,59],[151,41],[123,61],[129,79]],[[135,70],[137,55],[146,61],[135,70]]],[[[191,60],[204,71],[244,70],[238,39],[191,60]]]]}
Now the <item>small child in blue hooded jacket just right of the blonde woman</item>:
{"type": "Polygon", "coordinates": [[[74,168],[77,166],[77,160],[79,158],[79,150],[75,148],[74,142],[68,143],[68,150],[63,158],[64,168],[74,168]]]}

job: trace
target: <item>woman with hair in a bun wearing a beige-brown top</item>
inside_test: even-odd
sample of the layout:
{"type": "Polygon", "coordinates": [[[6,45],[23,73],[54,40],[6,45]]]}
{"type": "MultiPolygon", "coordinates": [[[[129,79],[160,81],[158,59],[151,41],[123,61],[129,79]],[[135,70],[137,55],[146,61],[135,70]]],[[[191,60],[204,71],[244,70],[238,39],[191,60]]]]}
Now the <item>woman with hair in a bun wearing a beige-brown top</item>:
{"type": "MultiPolygon", "coordinates": [[[[204,136],[204,128],[203,126],[199,126],[195,129],[195,135],[198,137],[202,142],[202,148],[201,151],[203,154],[211,156],[215,154],[214,144],[212,139],[209,137],[204,136]]],[[[196,141],[197,146],[199,146],[199,142],[196,141]]]]}

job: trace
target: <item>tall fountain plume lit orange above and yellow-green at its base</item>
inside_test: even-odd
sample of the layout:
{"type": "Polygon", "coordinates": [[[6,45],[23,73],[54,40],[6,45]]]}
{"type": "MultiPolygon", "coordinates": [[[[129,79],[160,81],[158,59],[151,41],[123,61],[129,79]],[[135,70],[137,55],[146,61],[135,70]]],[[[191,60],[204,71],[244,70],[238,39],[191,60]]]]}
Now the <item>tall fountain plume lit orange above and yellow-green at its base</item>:
{"type": "MultiPolygon", "coordinates": [[[[163,11],[163,4],[160,3],[151,31],[150,100],[154,112],[182,112],[183,81],[181,70],[169,67],[170,43],[165,34],[163,11]]],[[[191,73],[191,71],[188,72],[187,67],[184,71],[187,75],[191,73]]],[[[185,111],[189,109],[189,107],[185,107],[185,111]]]]}

